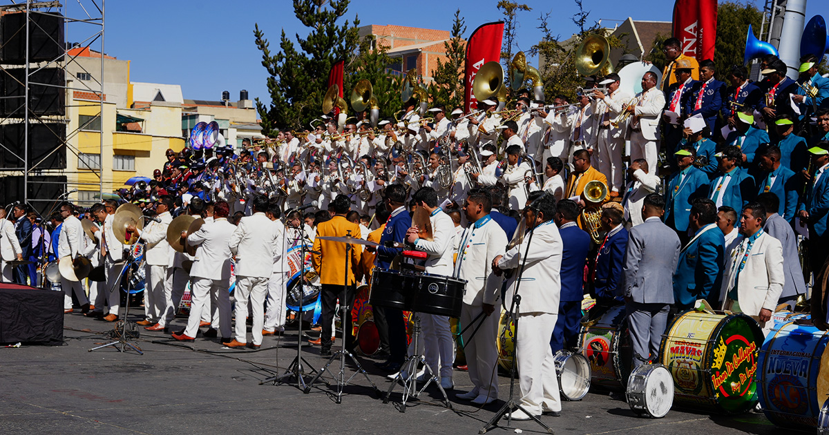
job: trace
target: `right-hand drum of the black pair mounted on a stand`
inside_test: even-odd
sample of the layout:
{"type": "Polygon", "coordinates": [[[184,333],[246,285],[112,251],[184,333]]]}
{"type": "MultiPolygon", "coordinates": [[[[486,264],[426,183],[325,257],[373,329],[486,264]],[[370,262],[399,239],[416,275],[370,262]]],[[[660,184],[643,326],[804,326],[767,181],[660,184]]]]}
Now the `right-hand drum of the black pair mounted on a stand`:
{"type": "Polygon", "coordinates": [[[412,311],[461,317],[466,280],[434,273],[415,273],[414,277],[412,311]]]}

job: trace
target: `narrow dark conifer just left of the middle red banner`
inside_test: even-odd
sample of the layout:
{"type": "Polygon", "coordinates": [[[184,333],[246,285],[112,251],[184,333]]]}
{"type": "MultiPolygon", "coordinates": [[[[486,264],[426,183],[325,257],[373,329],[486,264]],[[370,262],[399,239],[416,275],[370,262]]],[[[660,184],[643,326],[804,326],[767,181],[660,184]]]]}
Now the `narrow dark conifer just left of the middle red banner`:
{"type": "Polygon", "coordinates": [[[461,10],[455,11],[452,25],[452,37],[444,42],[446,61],[438,59],[434,70],[434,83],[429,85],[429,94],[436,106],[445,106],[446,110],[463,105],[463,64],[466,58],[466,41],[463,33],[466,25],[461,17],[461,10]]]}

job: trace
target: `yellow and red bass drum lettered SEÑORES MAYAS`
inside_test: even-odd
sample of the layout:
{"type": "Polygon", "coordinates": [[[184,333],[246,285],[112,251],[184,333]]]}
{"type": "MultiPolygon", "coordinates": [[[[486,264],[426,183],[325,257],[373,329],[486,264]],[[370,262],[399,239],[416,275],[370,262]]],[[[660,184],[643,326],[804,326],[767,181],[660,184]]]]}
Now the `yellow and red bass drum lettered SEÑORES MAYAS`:
{"type": "Polygon", "coordinates": [[[668,327],[659,352],[674,379],[676,404],[717,413],[754,408],[762,344],[763,331],[744,314],[681,313],[668,327]]]}

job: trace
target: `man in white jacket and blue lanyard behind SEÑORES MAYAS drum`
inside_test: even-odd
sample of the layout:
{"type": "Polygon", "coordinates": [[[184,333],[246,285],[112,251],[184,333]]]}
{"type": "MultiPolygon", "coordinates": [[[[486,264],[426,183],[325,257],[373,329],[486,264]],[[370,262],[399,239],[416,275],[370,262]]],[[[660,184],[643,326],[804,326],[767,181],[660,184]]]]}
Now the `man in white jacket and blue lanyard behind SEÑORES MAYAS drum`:
{"type": "Polygon", "coordinates": [[[743,312],[764,327],[783,292],[783,246],[763,230],[763,205],[749,203],[740,217],[742,238],[725,266],[721,297],[723,310],[743,312]]]}

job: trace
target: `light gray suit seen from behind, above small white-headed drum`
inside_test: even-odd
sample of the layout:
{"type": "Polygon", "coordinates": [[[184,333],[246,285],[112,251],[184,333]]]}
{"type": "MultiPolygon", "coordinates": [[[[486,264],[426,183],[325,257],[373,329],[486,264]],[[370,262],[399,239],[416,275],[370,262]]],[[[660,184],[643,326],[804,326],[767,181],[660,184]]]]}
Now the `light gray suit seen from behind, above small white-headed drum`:
{"type": "Polygon", "coordinates": [[[659,355],[668,309],[674,302],[673,271],[680,249],[676,232],[657,217],[630,230],[619,291],[625,297],[634,366],[659,355]]]}

